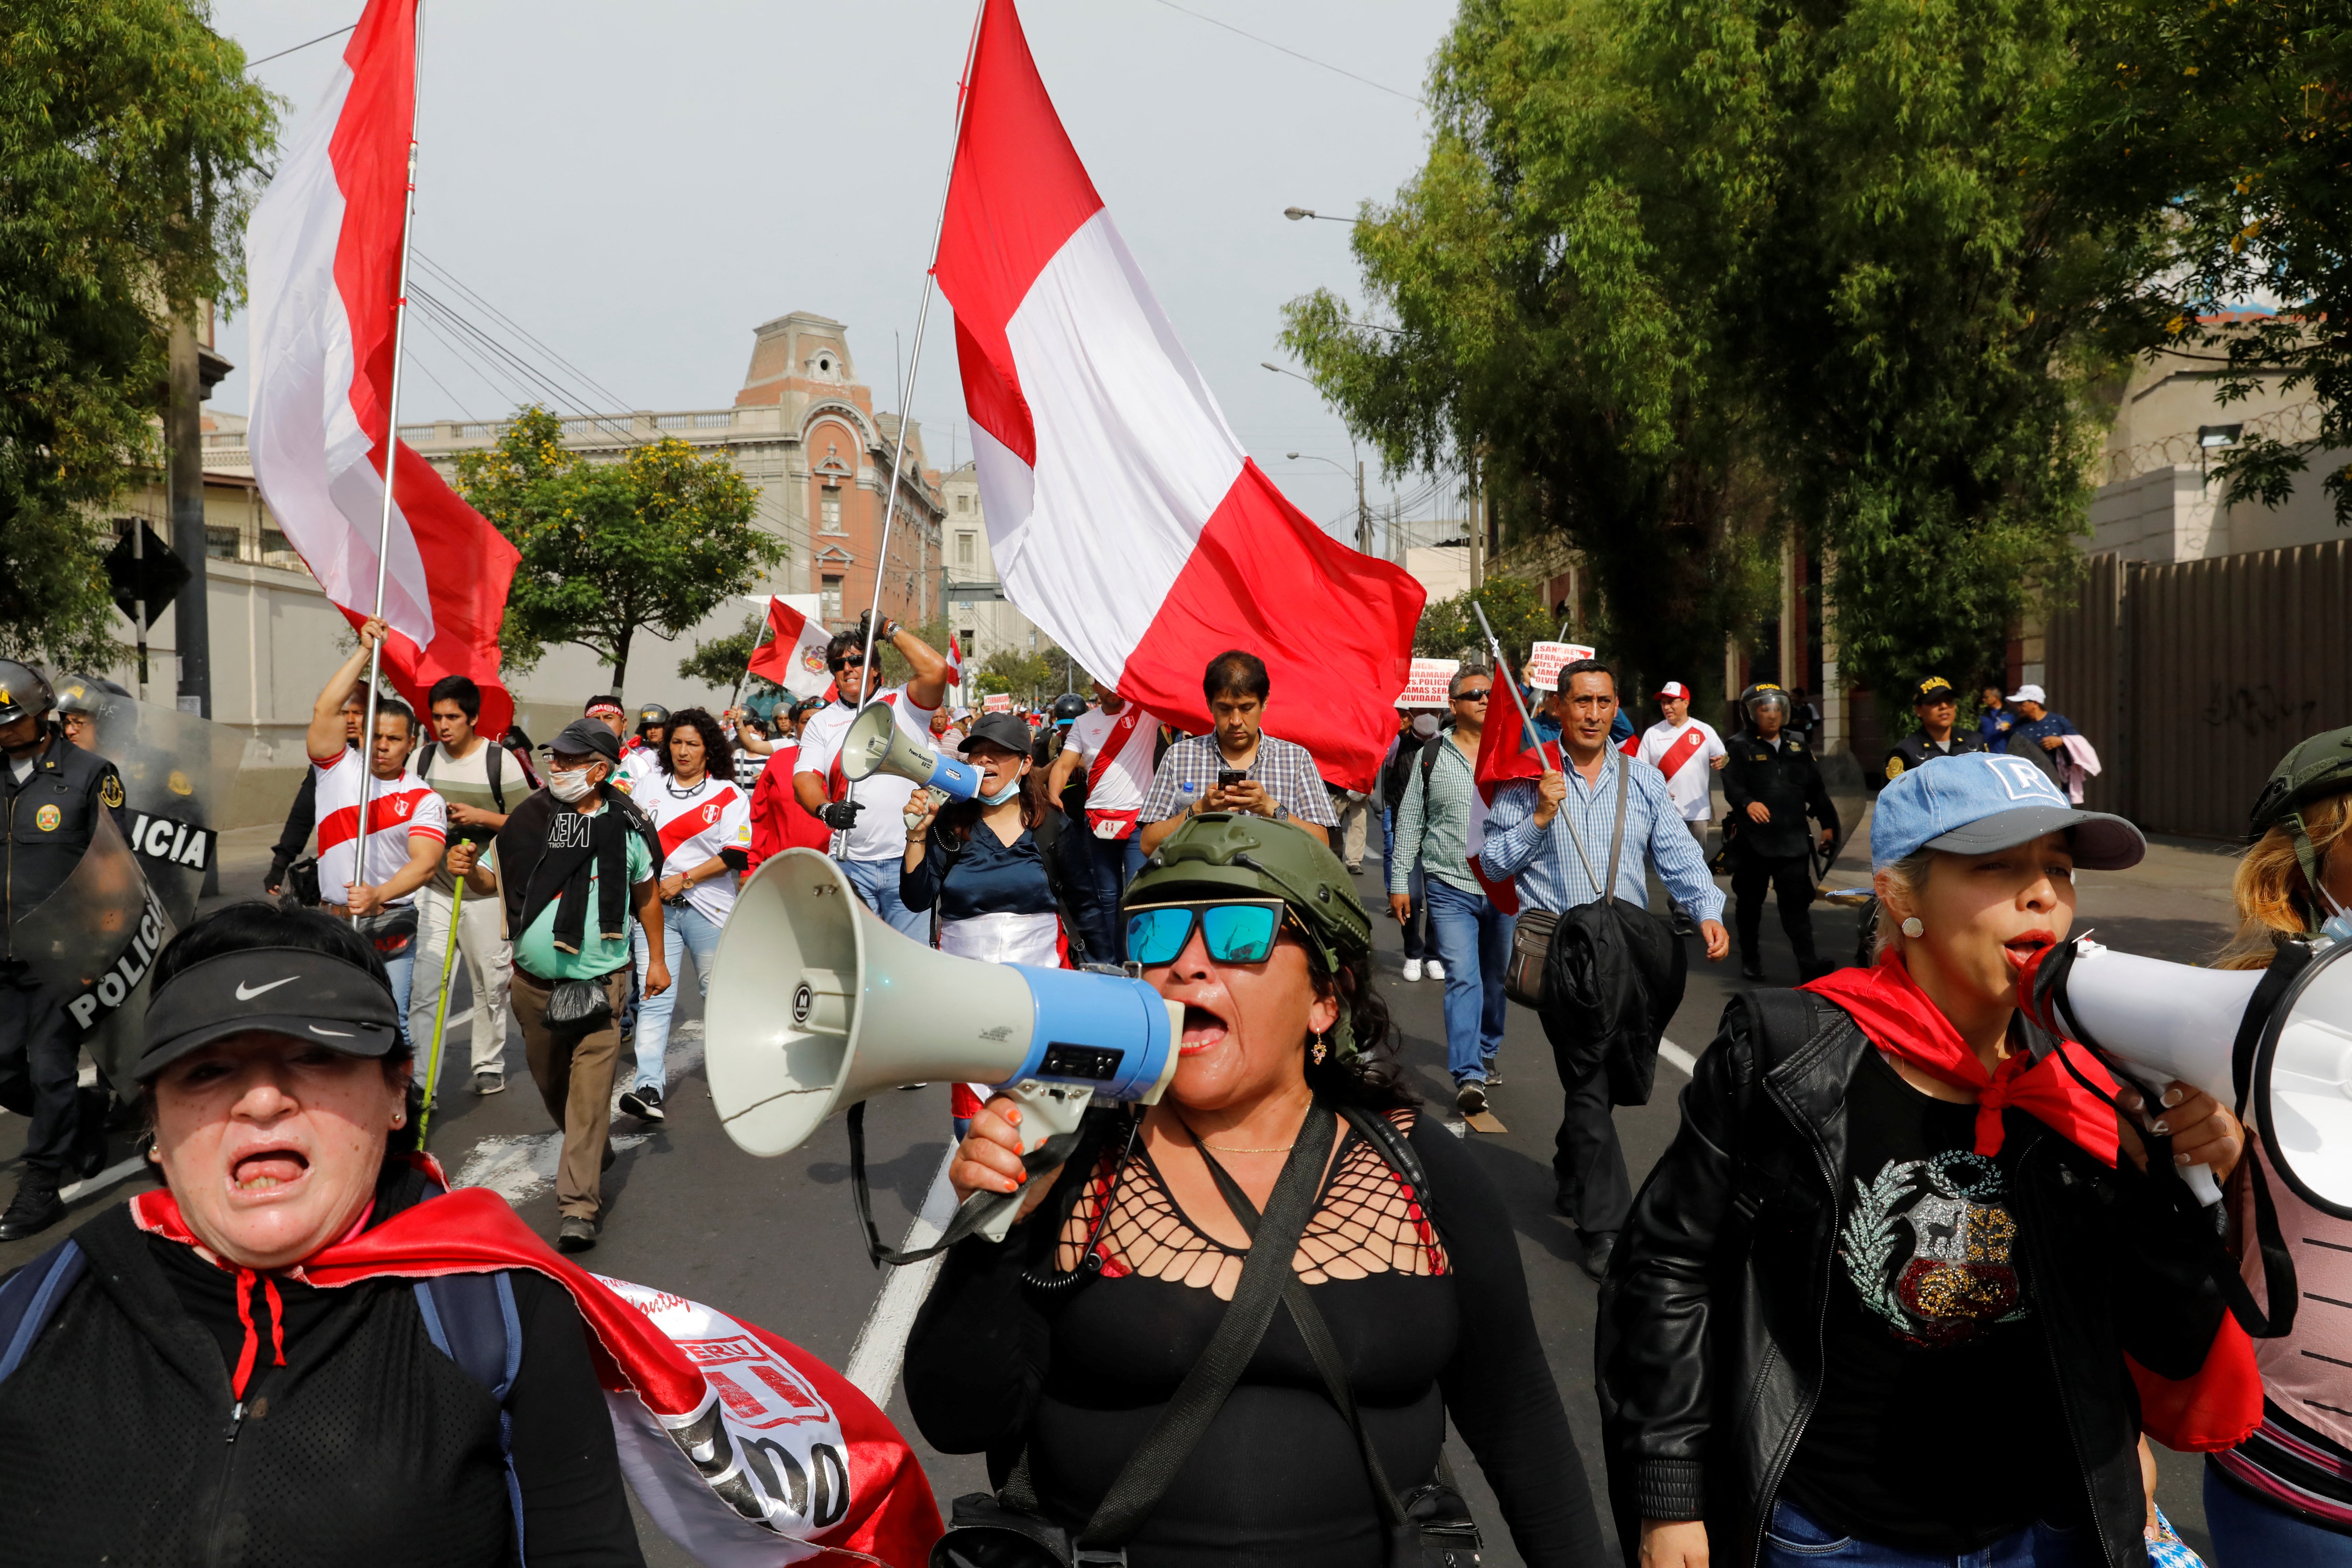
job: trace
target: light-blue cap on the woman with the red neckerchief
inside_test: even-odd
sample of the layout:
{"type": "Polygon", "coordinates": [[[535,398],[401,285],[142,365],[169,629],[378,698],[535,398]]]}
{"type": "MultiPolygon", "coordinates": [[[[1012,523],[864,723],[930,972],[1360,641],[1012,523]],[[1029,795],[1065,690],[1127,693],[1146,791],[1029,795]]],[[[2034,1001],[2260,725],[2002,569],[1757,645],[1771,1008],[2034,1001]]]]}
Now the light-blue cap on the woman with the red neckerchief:
{"type": "Polygon", "coordinates": [[[1922,849],[1990,856],[2065,832],[2074,865],[2119,872],[2147,853],[2140,830],[2072,804],[2032,757],[1929,757],[1879,790],[1870,818],[1870,867],[1884,870],[1922,849]]]}

